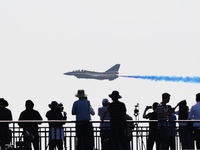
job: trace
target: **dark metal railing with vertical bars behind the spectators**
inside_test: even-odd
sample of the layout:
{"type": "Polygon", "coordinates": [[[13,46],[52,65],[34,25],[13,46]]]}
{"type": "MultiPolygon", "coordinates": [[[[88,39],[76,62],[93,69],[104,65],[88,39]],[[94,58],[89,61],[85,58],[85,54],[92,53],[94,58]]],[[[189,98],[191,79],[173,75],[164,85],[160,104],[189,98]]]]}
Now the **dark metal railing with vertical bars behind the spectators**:
{"type": "MultiPolygon", "coordinates": [[[[188,122],[188,120],[186,120],[188,122]]],[[[38,122],[37,120],[33,121],[0,121],[0,123],[9,123],[9,128],[12,133],[11,143],[13,148],[17,148],[18,143],[23,141],[22,132],[23,129],[19,128],[19,122],[38,122]]],[[[76,128],[75,128],[75,121],[60,121],[60,120],[51,120],[51,121],[39,121],[42,124],[39,125],[39,139],[40,139],[40,149],[46,150],[48,149],[49,144],[49,124],[50,122],[65,122],[63,125],[64,128],[64,150],[76,150],[76,128]]],[[[99,124],[100,121],[91,121],[94,128],[94,148],[95,150],[101,150],[101,137],[100,137],[100,128],[99,124]]],[[[156,122],[156,121],[128,121],[133,123],[135,127],[131,130],[132,131],[132,139],[130,141],[131,150],[146,150],[147,147],[147,138],[149,132],[149,122],[156,122]]],[[[178,122],[177,123],[176,131],[178,131],[178,122]]],[[[181,121],[184,122],[184,121],[181,121]]],[[[156,134],[156,133],[155,133],[156,134]]],[[[180,140],[178,132],[176,134],[176,149],[181,149],[180,140]]]]}

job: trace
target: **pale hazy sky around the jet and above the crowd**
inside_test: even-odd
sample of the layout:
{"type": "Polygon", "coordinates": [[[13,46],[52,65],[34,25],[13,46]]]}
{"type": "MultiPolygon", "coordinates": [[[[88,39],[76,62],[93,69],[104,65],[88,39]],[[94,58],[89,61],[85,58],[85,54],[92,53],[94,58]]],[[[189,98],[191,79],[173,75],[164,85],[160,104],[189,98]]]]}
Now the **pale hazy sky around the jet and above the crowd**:
{"type": "MultiPolygon", "coordinates": [[[[200,84],[118,78],[79,80],[75,69],[105,71],[120,63],[121,75],[200,76],[200,2],[194,1],[0,1],[0,97],[14,120],[32,99],[45,118],[57,100],[71,116],[78,89],[85,89],[97,112],[101,100],[119,90],[128,113],[140,116],[161,94],[170,104],[195,103],[200,84]]],[[[95,115],[93,119],[97,120],[95,115]]]]}

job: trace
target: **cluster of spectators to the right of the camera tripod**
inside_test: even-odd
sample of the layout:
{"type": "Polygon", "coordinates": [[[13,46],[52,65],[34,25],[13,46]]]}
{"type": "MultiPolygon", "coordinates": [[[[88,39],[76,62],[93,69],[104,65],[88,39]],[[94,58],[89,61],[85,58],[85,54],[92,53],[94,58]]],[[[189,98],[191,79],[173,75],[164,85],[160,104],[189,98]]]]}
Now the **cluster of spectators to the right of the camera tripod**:
{"type": "Polygon", "coordinates": [[[147,150],[152,150],[154,144],[156,150],[176,150],[177,135],[180,139],[180,149],[200,149],[200,93],[196,94],[196,103],[190,109],[186,100],[180,101],[175,107],[167,105],[170,96],[169,93],[163,93],[160,103],[155,102],[152,107],[147,106],[144,110],[143,118],[157,121],[149,123],[147,150]],[[147,113],[150,109],[152,112],[147,113]],[[179,124],[178,128],[175,120],[179,124]]]}

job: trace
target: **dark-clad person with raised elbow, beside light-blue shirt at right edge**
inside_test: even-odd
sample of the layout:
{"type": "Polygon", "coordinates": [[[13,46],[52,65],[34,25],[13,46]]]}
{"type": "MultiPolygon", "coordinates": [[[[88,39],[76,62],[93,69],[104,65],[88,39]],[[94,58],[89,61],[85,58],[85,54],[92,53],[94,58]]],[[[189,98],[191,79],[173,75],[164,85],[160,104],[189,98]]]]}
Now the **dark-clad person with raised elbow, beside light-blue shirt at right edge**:
{"type": "MultiPolygon", "coordinates": [[[[189,107],[186,100],[183,100],[177,104],[178,120],[188,120],[189,107]]],[[[182,149],[194,149],[194,139],[192,136],[192,124],[188,122],[179,122],[179,138],[182,149]]]]}

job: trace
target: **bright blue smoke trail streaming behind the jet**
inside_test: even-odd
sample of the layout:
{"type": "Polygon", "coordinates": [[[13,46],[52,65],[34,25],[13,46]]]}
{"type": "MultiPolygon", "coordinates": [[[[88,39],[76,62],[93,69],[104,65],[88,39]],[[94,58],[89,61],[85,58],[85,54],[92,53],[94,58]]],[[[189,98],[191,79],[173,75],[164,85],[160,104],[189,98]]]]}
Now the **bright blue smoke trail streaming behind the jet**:
{"type": "Polygon", "coordinates": [[[133,76],[121,76],[126,78],[135,78],[135,79],[146,79],[152,81],[171,81],[171,82],[186,82],[186,83],[200,83],[200,77],[181,77],[181,76],[140,76],[140,75],[133,75],[133,76]]]}

